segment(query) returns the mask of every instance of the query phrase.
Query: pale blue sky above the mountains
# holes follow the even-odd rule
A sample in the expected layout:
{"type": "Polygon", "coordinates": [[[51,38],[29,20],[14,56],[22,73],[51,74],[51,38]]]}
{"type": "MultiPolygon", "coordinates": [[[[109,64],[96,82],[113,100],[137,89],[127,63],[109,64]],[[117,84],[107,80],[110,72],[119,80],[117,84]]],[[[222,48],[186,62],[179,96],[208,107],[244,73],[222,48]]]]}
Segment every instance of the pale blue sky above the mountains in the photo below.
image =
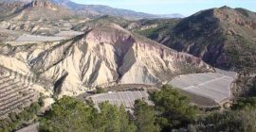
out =
{"type": "Polygon", "coordinates": [[[72,0],[80,4],[106,5],[151,14],[180,13],[184,16],[207,8],[247,8],[256,11],[256,0],[72,0]]]}

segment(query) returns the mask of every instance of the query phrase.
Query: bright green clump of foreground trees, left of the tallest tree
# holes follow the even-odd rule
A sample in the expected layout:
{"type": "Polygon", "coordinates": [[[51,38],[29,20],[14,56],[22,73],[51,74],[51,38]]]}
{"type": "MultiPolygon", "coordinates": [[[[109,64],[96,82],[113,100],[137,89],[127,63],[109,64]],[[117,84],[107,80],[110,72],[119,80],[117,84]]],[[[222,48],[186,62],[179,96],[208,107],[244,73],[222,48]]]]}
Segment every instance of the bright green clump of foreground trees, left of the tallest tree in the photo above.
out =
{"type": "Polygon", "coordinates": [[[134,132],[124,107],[102,103],[99,110],[64,96],[41,120],[41,131],[50,132],[134,132]]]}

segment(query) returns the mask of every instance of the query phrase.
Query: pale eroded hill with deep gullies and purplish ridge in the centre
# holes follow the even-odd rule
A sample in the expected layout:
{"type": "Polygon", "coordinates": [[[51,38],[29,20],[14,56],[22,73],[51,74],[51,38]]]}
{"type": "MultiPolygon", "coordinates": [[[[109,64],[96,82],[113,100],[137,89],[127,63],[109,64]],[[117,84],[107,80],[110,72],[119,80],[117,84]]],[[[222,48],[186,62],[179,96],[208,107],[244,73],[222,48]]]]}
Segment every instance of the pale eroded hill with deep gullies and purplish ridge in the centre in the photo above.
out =
{"type": "Polygon", "coordinates": [[[0,51],[24,61],[32,74],[51,80],[61,95],[97,86],[161,84],[177,74],[212,72],[199,58],[178,53],[116,24],[99,25],[60,43],[47,42],[0,51]]]}

